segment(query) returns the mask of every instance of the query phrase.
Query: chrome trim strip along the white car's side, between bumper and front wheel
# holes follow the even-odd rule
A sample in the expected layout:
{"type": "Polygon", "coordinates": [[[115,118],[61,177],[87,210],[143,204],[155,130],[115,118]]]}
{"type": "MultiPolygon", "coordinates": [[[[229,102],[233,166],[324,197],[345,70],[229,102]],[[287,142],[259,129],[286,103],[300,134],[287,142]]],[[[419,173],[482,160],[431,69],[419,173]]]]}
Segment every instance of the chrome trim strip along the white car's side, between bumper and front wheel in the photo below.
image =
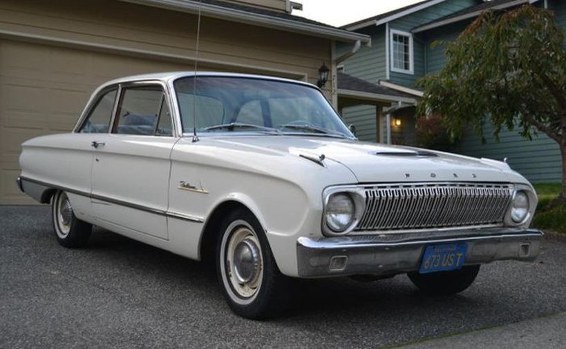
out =
{"type": "Polygon", "coordinates": [[[22,183],[25,182],[25,181],[28,181],[30,183],[35,183],[39,186],[44,186],[46,188],[63,190],[65,192],[70,192],[70,193],[75,194],[75,195],[81,195],[83,197],[88,197],[91,200],[100,200],[100,201],[104,201],[104,203],[113,203],[115,205],[133,208],[135,210],[150,212],[150,213],[153,213],[154,215],[161,215],[161,216],[175,218],[175,219],[183,219],[185,221],[192,221],[192,222],[196,222],[196,223],[204,223],[205,222],[205,219],[203,217],[185,215],[184,213],[180,213],[180,212],[171,212],[171,211],[160,210],[158,208],[151,208],[149,206],[138,205],[136,203],[130,203],[130,202],[123,201],[123,200],[113,199],[111,197],[104,197],[102,195],[94,195],[91,192],[84,192],[82,190],[76,190],[76,189],[68,188],[68,187],[65,187],[65,186],[57,186],[56,184],[53,184],[53,183],[46,183],[44,181],[39,181],[37,179],[31,179],[31,178],[28,178],[28,177],[19,177],[19,178],[21,179],[22,183]]]}

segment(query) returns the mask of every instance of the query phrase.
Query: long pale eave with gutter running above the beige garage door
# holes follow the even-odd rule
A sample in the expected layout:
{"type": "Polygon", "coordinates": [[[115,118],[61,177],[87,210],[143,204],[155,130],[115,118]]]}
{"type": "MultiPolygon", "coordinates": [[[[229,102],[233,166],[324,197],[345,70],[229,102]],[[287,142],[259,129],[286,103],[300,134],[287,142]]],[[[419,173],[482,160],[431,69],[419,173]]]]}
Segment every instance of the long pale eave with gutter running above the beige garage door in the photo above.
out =
{"type": "Polygon", "coordinates": [[[267,28],[274,28],[290,32],[298,32],[301,34],[311,34],[315,37],[323,37],[337,41],[355,42],[361,41],[366,44],[371,43],[371,37],[355,32],[348,32],[338,28],[327,28],[317,26],[311,23],[303,23],[299,21],[291,21],[289,19],[276,18],[265,14],[258,14],[237,10],[234,8],[225,8],[210,3],[198,3],[196,1],[180,1],[180,0],[119,0],[138,5],[152,6],[155,8],[164,8],[178,12],[188,12],[196,14],[200,13],[206,17],[214,17],[218,19],[227,19],[229,21],[254,24],[267,28]]]}

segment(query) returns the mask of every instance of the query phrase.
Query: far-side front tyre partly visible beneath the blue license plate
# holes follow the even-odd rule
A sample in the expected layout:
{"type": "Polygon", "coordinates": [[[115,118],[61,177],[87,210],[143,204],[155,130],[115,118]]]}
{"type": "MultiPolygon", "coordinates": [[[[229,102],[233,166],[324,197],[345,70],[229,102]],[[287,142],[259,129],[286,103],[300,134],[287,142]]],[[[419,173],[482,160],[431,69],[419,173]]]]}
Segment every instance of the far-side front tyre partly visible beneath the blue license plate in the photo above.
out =
{"type": "Polygon", "coordinates": [[[431,272],[419,274],[409,272],[407,276],[425,295],[448,296],[455,295],[469,288],[480,272],[480,266],[465,266],[460,270],[449,272],[431,272]]]}

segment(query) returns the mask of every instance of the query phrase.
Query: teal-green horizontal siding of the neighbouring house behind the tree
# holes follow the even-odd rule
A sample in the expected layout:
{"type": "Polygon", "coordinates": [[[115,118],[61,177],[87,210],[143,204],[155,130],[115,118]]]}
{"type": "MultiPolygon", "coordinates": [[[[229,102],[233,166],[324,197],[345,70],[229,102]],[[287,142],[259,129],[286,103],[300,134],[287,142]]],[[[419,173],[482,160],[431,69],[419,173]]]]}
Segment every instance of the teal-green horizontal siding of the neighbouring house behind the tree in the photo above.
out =
{"type": "MultiPolygon", "coordinates": [[[[415,12],[406,17],[389,23],[390,29],[410,32],[411,29],[429,21],[433,21],[446,14],[460,10],[467,6],[478,3],[473,0],[447,0],[436,6],[415,12]]],[[[540,1],[542,4],[543,1],[540,1]]],[[[566,1],[549,0],[549,8],[556,13],[556,22],[562,28],[566,28],[566,1]]],[[[452,41],[471,22],[462,21],[449,26],[428,30],[413,35],[414,43],[414,74],[403,74],[390,72],[390,81],[404,86],[413,87],[419,77],[424,74],[434,73],[442,70],[446,63],[444,46],[431,47],[434,41],[452,41]]],[[[386,79],[386,48],[385,48],[385,25],[369,27],[359,30],[372,37],[372,47],[362,47],[357,54],[345,63],[347,74],[372,83],[379,79],[386,79]]],[[[351,46],[339,46],[338,52],[346,52],[351,46]]],[[[364,141],[377,141],[377,125],[375,107],[357,106],[344,108],[344,119],[347,123],[353,123],[357,127],[359,139],[364,141]]],[[[405,118],[404,118],[405,119],[405,118]]],[[[406,120],[404,120],[406,121],[406,120]]],[[[404,123],[404,132],[410,123],[404,123]]],[[[557,182],[561,180],[561,157],[558,144],[549,139],[545,134],[534,136],[532,141],[520,137],[515,131],[502,130],[500,141],[496,141],[492,135],[493,128],[487,126],[484,130],[487,143],[482,144],[480,137],[473,132],[466,132],[460,142],[460,152],[473,157],[487,157],[502,160],[509,159],[509,165],[532,182],[557,182]]],[[[399,139],[394,131],[392,138],[399,139]]],[[[404,141],[412,139],[412,132],[403,137],[404,141]]],[[[403,142],[404,143],[404,142],[403,142]]]]}

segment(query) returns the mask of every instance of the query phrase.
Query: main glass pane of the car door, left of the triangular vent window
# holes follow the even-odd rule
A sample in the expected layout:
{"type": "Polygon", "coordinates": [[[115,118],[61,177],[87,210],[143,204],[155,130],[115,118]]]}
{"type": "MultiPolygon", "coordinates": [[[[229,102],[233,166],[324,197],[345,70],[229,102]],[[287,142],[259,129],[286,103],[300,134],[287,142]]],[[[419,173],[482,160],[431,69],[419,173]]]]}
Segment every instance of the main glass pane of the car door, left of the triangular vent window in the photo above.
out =
{"type": "Polygon", "coordinates": [[[155,134],[163,99],[162,88],[142,86],[124,88],[123,91],[115,133],[155,134]]]}

